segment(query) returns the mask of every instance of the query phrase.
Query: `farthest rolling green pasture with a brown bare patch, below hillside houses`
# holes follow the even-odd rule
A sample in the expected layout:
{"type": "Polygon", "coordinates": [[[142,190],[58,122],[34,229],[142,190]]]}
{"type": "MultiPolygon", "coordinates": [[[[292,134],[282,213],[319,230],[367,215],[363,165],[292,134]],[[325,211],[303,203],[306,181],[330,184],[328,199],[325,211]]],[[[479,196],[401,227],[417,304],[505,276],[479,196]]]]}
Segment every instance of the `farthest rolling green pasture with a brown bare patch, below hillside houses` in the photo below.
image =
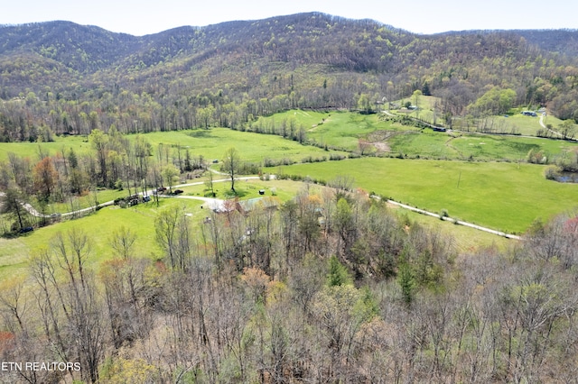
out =
{"type": "MultiPolygon", "coordinates": [[[[410,114],[413,115],[413,114],[410,114]]],[[[578,151],[578,143],[554,139],[540,139],[515,135],[479,134],[448,132],[438,133],[432,129],[423,130],[400,123],[383,121],[380,114],[356,114],[350,112],[312,112],[287,111],[262,118],[262,124],[281,125],[284,121],[294,120],[307,131],[307,138],[313,142],[340,148],[347,151],[358,151],[359,140],[385,145],[389,156],[403,156],[425,159],[450,160],[508,160],[524,161],[530,150],[543,151],[549,159],[564,156],[569,151],[578,151]],[[376,142],[377,137],[371,133],[381,131],[387,136],[383,142],[376,142]]],[[[517,121],[517,126],[527,127],[535,134],[541,128],[538,118],[519,114],[519,116],[494,116],[504,121],[517,121]],[[524,124],[532,125],[528,127],[524,124]],[[537,127],[534,127],[534,124],[537,127]]],[[[548,117],[555,120],[555,117],[548,117]]],[[[508,127],[508,130],[511,127],[508,127]]],[[[508,131],[509,132],[509,131],[508,131]]],[[[530,133],[530,132],[528,132],[530,133]]],[[[377,135],[379,136],[379,135],[377,135]]],[[[376,150],[377,151],[377,150],[376,150]]],[[[387,155],[387,153],[386,153],[387,155]]]]}

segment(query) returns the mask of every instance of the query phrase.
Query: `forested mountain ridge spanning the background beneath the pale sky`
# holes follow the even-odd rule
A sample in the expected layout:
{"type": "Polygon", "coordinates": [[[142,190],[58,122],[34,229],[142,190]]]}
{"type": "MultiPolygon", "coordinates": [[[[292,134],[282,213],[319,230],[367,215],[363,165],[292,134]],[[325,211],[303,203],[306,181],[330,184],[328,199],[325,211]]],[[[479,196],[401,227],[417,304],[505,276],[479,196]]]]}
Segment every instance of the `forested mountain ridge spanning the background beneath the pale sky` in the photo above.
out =
{"type": "Polygon", "coordinates": [[[514,90],[516,105],[547,105],[563,119],[576,118],[576,36],[418,35],[319,13],[142,37],[70,22],[4,26],[0,98],[27,100],[2,105],[0,140],[28,140],[42,124],[53,133],[112,123],[124,132],[237,129],[287,108],[371,109],[383,97],[418,89],[442,97],[446,115],[472,113],[468,107],[497,87],[514,90]]]}

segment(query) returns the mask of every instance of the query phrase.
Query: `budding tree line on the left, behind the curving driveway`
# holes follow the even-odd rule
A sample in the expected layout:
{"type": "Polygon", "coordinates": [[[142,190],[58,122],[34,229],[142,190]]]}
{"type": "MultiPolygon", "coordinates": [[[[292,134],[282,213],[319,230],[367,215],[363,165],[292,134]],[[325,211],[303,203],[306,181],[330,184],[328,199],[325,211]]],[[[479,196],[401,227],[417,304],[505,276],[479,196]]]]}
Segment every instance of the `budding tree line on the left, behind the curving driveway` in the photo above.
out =
{"type": "MultiPolygon", "coordinates": [[[[202,155],[181,145],[161,143],[153,148],[144,135],[129,140],[114,125],[108,133],[95,129],[88,142],[90,151],[82,153],[65,145],[56,153],[39,145],[33,158],[8,152],[7,160],[0,161],[0,191],[4,192],[0,209],[7,214],[5,223],[13,221],[3,225],[3,233],[48,224],[47,216],[53,214],[48,206],[53,203],[67,204],[69,211],[75,211],[79,199],[85,197],[96,206],[99,188],[126,190],[128,196],[147,195],[152,188],[170,188],[175,181],[206,168],[202,155]],[[28,215],[25,203],[31,203],[39,217],[28,215]]],[[[238,168],[246,172],[243,164],[240,161],[238,168]]]]}

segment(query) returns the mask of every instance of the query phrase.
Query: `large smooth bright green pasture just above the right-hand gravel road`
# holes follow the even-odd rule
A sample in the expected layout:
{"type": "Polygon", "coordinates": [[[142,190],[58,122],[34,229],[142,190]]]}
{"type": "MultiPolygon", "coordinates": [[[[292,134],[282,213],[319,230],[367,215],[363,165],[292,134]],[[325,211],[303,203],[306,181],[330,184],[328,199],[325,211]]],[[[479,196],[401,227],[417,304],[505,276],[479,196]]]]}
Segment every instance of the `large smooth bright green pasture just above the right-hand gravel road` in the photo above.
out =
{"type": "MultiPolygon", "coordinates": [[[[355,187],[507,233],[524,233],[578,206],[578,185],[546,180],[544,166],[508,162],[356,159],[295,164],[277,172],[328,181],[349,175],[355,187]]],[[[272,170],[273,171],[273,170],[272,170]]]]}

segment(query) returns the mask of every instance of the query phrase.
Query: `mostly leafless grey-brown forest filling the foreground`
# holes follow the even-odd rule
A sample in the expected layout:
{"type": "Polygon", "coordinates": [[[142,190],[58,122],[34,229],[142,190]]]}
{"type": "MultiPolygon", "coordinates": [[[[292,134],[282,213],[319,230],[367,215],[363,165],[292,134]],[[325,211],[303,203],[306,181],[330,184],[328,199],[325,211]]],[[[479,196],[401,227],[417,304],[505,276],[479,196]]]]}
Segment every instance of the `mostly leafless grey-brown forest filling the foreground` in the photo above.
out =
{"type": "Polygon", "coordinates": [[[3,282],[0,356],[82,369],[2,379],[575,382],[575,218],[459,254],[382,203],[322,195],[214,214],[195,232],[169,206],[159,261],[135,254],[126,228],[98,267],[89,233],[54,237],[28,276],[3,282]]]}

